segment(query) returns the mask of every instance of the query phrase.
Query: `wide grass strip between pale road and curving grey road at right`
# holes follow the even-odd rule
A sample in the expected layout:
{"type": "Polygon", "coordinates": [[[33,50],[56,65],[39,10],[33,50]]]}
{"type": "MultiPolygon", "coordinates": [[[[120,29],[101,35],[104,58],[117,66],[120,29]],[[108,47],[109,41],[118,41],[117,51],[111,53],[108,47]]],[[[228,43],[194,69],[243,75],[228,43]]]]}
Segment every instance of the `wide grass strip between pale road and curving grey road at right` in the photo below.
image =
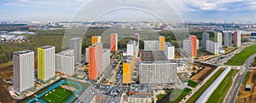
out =
{"type": "Polygon", "coordinates": [[[212,95],[207,100],[207,103],[222,103],[226,94],[228,93],[230,86],[233,83],[233,78],[239,70],[232,69],[223,81],[219,83],[218,88],[214,90],[212,95]]]}

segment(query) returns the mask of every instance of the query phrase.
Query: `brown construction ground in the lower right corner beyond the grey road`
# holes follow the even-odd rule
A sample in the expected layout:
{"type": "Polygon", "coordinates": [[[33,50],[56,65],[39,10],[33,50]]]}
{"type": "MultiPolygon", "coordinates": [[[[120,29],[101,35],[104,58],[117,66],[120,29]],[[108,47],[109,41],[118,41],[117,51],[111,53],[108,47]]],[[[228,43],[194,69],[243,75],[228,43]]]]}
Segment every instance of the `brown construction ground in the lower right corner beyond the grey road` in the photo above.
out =
{"type": "Polygon", "coordinates": [[[256,70],[250,70],[244,77],[243,83],[239,90],[236,101],[239,103],[255,103],[256,102],[256,70]]]}

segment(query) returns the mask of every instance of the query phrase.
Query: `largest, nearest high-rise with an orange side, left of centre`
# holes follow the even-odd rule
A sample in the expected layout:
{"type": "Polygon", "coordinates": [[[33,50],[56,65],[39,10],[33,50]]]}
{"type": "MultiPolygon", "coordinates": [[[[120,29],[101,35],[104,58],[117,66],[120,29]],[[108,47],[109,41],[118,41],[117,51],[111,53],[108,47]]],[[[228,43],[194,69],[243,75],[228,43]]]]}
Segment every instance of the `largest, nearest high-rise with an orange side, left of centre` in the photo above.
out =
{"type": "Polygon", "coordinates": [[[89,47],[89,79],[96,80],[102,73],[102,43],[89,47]]]}

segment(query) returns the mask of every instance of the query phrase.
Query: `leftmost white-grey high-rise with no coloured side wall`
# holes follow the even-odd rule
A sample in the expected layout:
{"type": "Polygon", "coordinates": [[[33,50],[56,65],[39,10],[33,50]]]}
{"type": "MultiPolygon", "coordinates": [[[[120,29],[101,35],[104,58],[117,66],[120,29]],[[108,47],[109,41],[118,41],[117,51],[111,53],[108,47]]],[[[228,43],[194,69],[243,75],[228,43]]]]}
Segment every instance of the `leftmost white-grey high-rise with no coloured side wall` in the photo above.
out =
{"type": "Polygon", "coordinates": [[[18,94],[34,88],[34,52],[31,50],[17,51],[13,54],[14,77],[13,87],[18,94]]]}

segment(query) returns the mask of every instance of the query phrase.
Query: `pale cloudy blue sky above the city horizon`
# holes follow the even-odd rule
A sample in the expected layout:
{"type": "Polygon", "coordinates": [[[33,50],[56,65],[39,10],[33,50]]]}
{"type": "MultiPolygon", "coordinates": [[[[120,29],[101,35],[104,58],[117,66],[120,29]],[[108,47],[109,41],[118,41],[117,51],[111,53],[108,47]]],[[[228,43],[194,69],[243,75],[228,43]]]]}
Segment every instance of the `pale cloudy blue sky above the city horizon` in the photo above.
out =
{"type": "Polygon", "coordinates": [[[8,20],[184,20],[256,22],[255,0],[0,0],[8,20]]]}

